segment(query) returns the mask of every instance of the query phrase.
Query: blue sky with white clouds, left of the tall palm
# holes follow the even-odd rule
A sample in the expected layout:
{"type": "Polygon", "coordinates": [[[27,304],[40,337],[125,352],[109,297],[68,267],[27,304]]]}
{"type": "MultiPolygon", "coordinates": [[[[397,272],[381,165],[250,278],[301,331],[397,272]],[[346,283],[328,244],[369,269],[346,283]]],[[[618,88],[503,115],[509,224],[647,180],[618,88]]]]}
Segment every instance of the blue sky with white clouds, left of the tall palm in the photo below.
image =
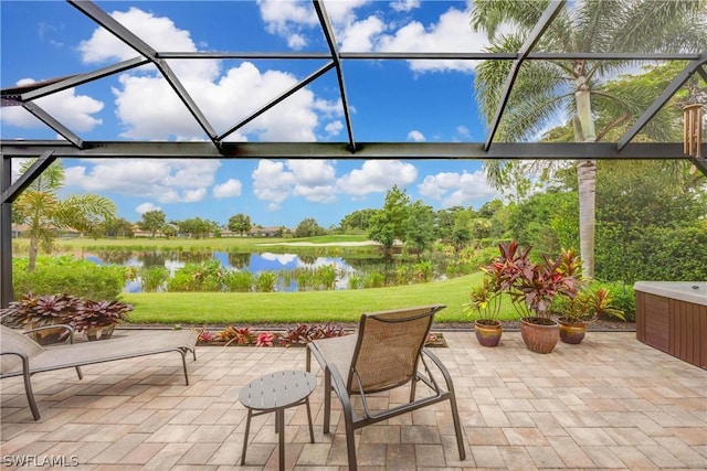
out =
{"type": "MultiPolygon", "coordinates": [[[[158,51],[316,51],[327,46],[310,2],[96,2],[158,51]]],[[[481,51],[471,2],[327,1],[342,51],[481,51]]],[[[0,2],[1,86],[93,71],[136,53],[65,2],[0,2]]],[[[324,65],[319,61],[172,61],[217,132],[324,65]]],[[[357,141],[484,141],[474,63],[348,61],[346,87],[357,141]]],[[[141,67],[38,100],[84,140],[205,140],[159,74],[141,67]]],[[[56,139],[19,107],[1,109],[2,139],[56,139]]],[[[334,72],[230,136],[239,141],[346,141],[334,72]]],[[[479,207],[499,195],[478,161],[64,160],[67,193],[110,197],[119,216],[328,227],[381,207],[393,184],[435,210],[479,207]]],[[[19,167],[19,165],[15,165],[19,167]]]]}

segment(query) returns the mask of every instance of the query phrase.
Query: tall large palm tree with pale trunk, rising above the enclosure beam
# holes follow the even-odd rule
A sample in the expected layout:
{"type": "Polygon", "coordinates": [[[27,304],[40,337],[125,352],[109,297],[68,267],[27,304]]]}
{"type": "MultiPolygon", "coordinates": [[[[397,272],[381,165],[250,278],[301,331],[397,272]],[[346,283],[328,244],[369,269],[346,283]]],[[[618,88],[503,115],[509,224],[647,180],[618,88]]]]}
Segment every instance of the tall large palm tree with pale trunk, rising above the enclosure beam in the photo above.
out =
{"type": "MultiPolygon", "coordinates": [[[[485,30],[489,52],[516,52],[534,29],[549,0],[476,0],[472,28],[485,30]],[[502,25],[513,33],[499,34],[502,25]]],[[[700,0],[580,1],[562,9],[536,50],[562,52],[700,52],[707,44],[707,3],[700,0]]],[[[629,61],[526,61],[508,99],[496,139],[527,140],[539,135],[557,116],[566,118],[576,142],[595,142],[611,129],[639,116],[640,108],[626,97],[604,88],[608,77],[631,65],[629,61]],[[608,117],[600,122],[597,116],[608,117]]],[[[482,111],[493,119],[508,61],[486,61],[477,68],[476,95],[482,111]]],[[[658,126],[653,127],[659,132],[658,126]]],[[[657,138],[661,138],[656,136],[657,138]]],[[[503,186],[510,162],[488,162],[492,183],[503,186]]],[[[576,163],[579,186],[580,254],[583,276],[594,277],[594,193],[597,161],[576,163]]]]}

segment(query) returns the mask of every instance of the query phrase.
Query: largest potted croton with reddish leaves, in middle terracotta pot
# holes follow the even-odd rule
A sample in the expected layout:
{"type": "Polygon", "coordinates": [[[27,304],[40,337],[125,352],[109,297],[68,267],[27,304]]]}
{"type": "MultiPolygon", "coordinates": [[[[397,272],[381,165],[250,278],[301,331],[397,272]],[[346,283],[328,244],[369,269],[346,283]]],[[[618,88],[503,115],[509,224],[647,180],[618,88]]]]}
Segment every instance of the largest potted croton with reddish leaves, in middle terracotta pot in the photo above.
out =
{"type": "Polygon", "coordinates": [[[520,334],[526,346],[537,353],[552,352],[560,333],[551,307],[558,297],[577,295],[576,267],[568,266],[567,253],[557,260],[544,257],[541,263],[534,263],[529,257],[531,247],[524,250],[513,240],[498,248],[500,256],[484,269],[510,296],[520,315],[520,334]]]}

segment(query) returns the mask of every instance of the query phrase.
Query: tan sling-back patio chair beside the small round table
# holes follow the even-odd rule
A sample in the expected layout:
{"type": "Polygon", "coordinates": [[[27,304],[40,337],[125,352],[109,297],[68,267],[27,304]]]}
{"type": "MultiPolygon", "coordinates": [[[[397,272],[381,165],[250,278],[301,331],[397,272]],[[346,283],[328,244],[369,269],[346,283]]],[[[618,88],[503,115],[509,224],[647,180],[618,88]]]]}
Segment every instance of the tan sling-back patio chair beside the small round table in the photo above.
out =
{"type": "Polygon", "coordinates": [[[312,355],[324,370],[325,433],[329,432],[331,390],[341,402],[349,469],[357,469],[356,429],[442,400],[450,402],[460,459],[466,459],[452,378],[437,356],[424,346],[434,314],[443,308],[445,306],[434,304],[365,313],[359,322],[358,334],[320,339],[307,344],[307,371],[312,366],[312,355]],[[444,377],[446,388],[440,386],[433,370],[444,377]],[[431,393],[415,399],[419,382],[426,385],[431,393]],[[408,403],[384,410],[369,408],[368,397],[371,394],[408,384],[408,403]],[[360,405],[355,407],[351,396],[359,396],[360,405]]]}

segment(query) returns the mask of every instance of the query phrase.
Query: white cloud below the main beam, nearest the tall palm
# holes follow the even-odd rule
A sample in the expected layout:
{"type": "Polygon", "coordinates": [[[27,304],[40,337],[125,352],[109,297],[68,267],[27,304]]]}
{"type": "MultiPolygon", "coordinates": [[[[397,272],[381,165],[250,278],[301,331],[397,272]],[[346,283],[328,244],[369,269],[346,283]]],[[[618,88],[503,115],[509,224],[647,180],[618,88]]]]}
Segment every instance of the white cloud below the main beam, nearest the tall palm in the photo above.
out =
{"type": "Polygon", "coordinates": [[[468,206],[474,203],[485,203],[500,197],[500,193],[486,182],[483,171],[474,173],[443,172],[428,175],[418,185],[421,195],[440,201],[442,207],[468,206]]]}

